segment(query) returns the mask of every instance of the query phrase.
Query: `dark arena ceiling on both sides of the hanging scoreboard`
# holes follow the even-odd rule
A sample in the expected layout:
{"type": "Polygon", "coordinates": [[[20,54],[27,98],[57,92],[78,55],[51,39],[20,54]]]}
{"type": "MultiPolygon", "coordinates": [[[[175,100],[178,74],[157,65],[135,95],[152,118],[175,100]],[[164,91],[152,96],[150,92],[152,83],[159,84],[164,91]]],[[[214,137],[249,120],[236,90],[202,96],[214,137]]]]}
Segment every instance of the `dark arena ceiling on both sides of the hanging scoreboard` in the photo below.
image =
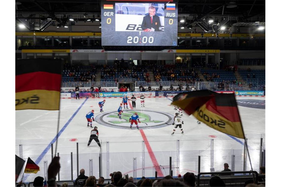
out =
{"type": "MultiPolygon", "coordinates": [[[[265,22],[265,0],[174,0],[178,3],[178,18],[185,19],[178,26],[198,27],[200,32],[218,31],[223,25],[255,24],[265,22]],[[208,25],[208,20],[214,20],[216,28],[208,25]],[[200,28],[200,29],[199,29],[200,28]]],[[[49,25],[66,24],[69,17],[76,21],[100,17],[100,0],[16,0],[16,24],[40,25],[30,27],[30,30],[41,30],[49,25]],[[48,21],[51,18],[52,21],[48,21]],[[39,21],[38,21],[39,20],[39,21]],[[38,23],[40,22],[40,23],[38,23]]],[[[44,30],[44,29],[43,29],[44,30]]]]}

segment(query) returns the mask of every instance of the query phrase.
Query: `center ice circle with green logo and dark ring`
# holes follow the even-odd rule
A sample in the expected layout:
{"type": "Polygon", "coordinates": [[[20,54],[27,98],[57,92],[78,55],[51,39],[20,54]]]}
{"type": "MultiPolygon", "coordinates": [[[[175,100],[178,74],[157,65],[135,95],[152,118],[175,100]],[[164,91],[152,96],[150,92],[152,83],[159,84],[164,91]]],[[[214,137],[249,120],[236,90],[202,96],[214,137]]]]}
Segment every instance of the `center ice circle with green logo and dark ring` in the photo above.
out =
{"type": "MultiPolygon", "coordinates": [[[[130,117],[138,113],[141,123],[138,123],[140,129],[160,128],[173,123],[174,116],[166,112],[154,111],[154,110],[124,110],[119,119],[117,111],[110,111],[99,114],[95,120],[101,125],[113,127],[113,128],[130,128],[130,117]],[[144,122],[144,123],[143,123],[144,122]],[[146,124],[147,125],[146,125],[146,124]],[[166,124],[168,123],[168,124],[166,124]]],[[[133,124],[133,129],[136,129],[136,125],[133,124]]]]}

